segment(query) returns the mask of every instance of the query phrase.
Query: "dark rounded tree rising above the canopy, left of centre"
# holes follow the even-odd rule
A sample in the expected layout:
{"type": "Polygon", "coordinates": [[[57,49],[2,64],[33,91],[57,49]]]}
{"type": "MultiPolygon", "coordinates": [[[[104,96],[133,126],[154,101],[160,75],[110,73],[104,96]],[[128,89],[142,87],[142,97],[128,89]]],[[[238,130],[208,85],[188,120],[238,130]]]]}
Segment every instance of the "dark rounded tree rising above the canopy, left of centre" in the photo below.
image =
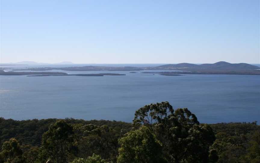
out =
{"type": "Polygon", "coordinates": [[[66,121],[59,120],[42,136],[42,160],[66,163],[73,145],[73,128],[66,121]]]}

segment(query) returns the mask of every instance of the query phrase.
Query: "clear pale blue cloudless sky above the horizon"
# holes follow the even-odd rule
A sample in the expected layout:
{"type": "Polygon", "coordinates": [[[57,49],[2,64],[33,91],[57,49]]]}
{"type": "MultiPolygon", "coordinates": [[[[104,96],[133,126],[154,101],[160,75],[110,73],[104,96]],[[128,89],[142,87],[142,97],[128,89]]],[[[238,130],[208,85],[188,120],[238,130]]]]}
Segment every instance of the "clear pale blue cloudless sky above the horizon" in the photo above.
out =
{"type": "Polygon", "coordinates": [[[0,0],[1,63],[260,63],[259,0],[0,0]]]}

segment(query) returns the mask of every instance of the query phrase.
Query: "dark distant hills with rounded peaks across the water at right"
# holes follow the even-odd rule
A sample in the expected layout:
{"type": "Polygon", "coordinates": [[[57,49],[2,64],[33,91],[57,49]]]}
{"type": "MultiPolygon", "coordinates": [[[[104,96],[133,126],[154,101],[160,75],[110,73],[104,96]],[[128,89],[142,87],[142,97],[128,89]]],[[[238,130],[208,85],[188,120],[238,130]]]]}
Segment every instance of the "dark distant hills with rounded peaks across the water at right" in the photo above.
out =
{"type": "Polygon", "coordinates": [[[191,64],[191,63],[179,63],[179,64],[167,64],[158,66],[158,68],[164,69],[218,69],[218,70],[248,70],[248,69],[259,69],[258,66],[250,65],[247,63],[228,63],[224,61],[216,63],[205,63],[201,65],[191,64]]]}

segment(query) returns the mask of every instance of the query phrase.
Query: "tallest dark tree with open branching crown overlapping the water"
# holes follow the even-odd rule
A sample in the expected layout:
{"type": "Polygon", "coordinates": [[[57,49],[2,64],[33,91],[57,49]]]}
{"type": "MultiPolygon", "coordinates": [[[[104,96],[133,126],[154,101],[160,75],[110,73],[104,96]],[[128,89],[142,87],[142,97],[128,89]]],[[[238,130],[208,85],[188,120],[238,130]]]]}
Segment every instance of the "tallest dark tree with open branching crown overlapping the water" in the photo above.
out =
{"type": "Polygon", "coordinates": [[[200,125],[187,108],[174,109],[169,102],[146,105],[135,112],[133,125],[145,125],[162,142],[169,162],[208,162],[215,135],[209,125],[200,125]]]}

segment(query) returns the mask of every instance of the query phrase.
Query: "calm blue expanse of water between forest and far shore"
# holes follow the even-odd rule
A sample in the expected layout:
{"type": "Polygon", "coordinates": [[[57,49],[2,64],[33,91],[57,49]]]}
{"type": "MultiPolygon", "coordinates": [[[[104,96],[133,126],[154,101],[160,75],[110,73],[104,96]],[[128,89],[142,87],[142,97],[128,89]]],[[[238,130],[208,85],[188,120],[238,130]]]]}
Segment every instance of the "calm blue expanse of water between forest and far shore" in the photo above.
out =
{"type": "Polygon", "coordinates": [[[113,73],[126,75],[0,76],[0,117],[16,120],[72,117],[131,122],[135,110],[140,107],[169,101],[175,109],[187,107],[203,123],[260,122],[258,75],[113,73]]]}

